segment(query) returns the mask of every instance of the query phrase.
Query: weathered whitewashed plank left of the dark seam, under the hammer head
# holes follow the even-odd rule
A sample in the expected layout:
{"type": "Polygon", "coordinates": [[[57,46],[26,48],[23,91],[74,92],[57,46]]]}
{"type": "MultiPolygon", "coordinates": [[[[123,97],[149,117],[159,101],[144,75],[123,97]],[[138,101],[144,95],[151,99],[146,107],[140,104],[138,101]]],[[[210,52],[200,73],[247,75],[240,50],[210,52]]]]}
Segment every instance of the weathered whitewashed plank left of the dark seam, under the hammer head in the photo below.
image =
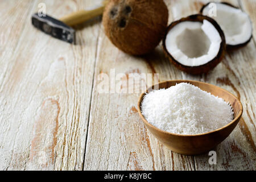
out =
{"type": "MultiPolygon", "coordinates": [[[[47,14],[56,18],[93,5],[91,1],[40,3],[46,3],[47,14]]],[[[73,46],[31,26],[31,14],[38,11],[38,4],[31,3],[32,9],[26,4],[19,7],[27,13],[20,21],[24,25],[19,44],[10,58],[1,59],[3,68],[8,69],[0,81],[4,162],[0,168],[81,170],[100,21],[77,31],[78,45],[73,46]]],[[[8,18],[14,24],[20,19],[8,18]]],[[[10,41],[18,35],[10,35],[10,41]]],[[[7,44],[11,43],[8,40],[7,44]]]]}

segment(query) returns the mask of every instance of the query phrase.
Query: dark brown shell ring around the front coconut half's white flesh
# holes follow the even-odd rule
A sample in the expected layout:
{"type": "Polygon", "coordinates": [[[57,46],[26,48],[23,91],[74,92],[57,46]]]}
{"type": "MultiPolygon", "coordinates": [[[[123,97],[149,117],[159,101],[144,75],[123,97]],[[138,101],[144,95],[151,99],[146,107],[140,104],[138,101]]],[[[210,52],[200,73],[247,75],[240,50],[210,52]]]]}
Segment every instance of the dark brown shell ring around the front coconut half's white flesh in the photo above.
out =
{"type": "Polygon", "coordinates": [[[225,50],[226,50],[225,48],[226,48],[226,42],[225,42],[224,32],[221,30],[221,28],[218,25],[218,23],[214,19],[209,18],[208,16],[200,15],[200,14],[191,15],[191,16],[188,16],[187,18],[182,18],[180,20],[172,22],[170,24],[170,26],[168,26],[166,34],[164,35],[164,38],[163,38],[164,53],[166,54],[168,59],[171,61],[171,63],[174,64],[175,67],[179,68],[181,71],[187,72],[187,73],[192,74],[192,75],[199,75],[201,73],[207,73],[211,69],[216,67],[218,65],[218,63],[221,62],[222,58],[225,55],[225,50]],[[218,51],[217,56],[215,56],[214,59],[210,60],[208,63],[200,65],[200,66],[196,66],[196,67],[189,67],[187,65],[183,65],[183,64],[179,63],[177,60],[174,59],[174,57],[172,57],[171,53],[167,51],[167,48],[166,48],[166,36],[167,36],[168,32],[171,30],[171,28],[176,26],[176,24],[178,24],[178,23],[185,22],[185,21],[201,22],[201,23],[203,23],[204,19],[208,20],[208,22],[212,23],[213,26],[216,28],[216,30],[218,31],[218,33],[221,36],[222,42],[221,42],[220,50],[218,51]]]}

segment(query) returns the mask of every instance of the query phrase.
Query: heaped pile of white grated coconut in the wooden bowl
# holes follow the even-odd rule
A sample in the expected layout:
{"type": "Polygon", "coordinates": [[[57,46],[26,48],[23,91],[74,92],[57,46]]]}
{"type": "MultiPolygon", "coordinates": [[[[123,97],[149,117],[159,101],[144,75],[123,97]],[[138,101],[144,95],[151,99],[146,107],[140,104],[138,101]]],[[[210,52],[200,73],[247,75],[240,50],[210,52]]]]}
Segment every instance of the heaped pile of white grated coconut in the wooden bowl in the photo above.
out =
{"type": "Polygon", "coordinates": [[[141,109],[151,125],[187,135],[216,130],[234,116],[232,107],[222,98],[187,83],[152,90],[144,96],[141,109]]]}

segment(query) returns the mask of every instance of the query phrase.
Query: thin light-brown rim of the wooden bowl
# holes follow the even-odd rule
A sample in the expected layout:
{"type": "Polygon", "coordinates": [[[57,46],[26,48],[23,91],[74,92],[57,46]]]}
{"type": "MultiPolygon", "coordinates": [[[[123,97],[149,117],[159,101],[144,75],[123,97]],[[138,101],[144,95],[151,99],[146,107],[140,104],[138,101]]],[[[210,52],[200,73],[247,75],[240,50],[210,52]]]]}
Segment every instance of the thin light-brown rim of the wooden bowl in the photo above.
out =
{"type": "MultiPolygon", "coordinates": [[[[139,100],[138,100],[138,113],[139,113],[139,116],[141,117],[141,119],[142,119],[142,121],[143,121],[143,123],[145,125],[148,125],[148,126],[152,127],[153,129],[159,131],[160,133],[164,133],[164,134],[168,134],[168,135],[176,135],[176,136],[179,136],[179,137],[199,137],[199,136],[203,136],[203,135],[207,135],[207,134],[212,134],[212,133],[215,133],[215,132],[220,131],[222,129],[225,129],[226,127],[228,127],[228,126],[232,125],[234,122],[236,122],[237,119],[239,119],[242,116],[243,106],[242,106],[241,101],[236,96],[234,96],[234,94],[228,92],[228,90],[220,88],[219,86],[216,86],[216,85],[213,85],[213,84],[208,84],[207,82],[201,82],[201,81],[195,81],[195,80],[167,80],[167,81],[158,82],[158,84],[155,84],[155,85],[152,85],[152,86],[148,87],[147,90],[145,92],[141,93],[141,95],[139,96],[139,100]],[[230,121],[225,126],[222,126],[222,127],[218,128],[216,130],[213,130],[213,131],[208,131],[207,133],[200,133],[200,134],[176,134],[176,133],[171,133],[171,132],[159,129],[158,127],[152,125],[150,122],[147,121],[147,119],[144,118],[144,116],[141,113],[141,103],[143,101],[144,95],[146,93],[148,93],[148,89],[152,88],[155,85],[163,84],[164,82],[187,82],[187,83],[190,83],[190,84],[192,84],[191,82],[197,82],[197,83],[200,83],[200,84],[206,84],[206,85],[217,87],[218,89],[220,89],[220,90],[222,90],[222,91],[232,95],[234,98],[236,98],[236,100],[238,101],[238,104],[240,106],[240,109],[239,109],[239,112],[237,114],[237,117],[234,118],[232,121],[230,121]]],[[[212,93],[210,93],[210,94],[212,94],[212,93]]]]}

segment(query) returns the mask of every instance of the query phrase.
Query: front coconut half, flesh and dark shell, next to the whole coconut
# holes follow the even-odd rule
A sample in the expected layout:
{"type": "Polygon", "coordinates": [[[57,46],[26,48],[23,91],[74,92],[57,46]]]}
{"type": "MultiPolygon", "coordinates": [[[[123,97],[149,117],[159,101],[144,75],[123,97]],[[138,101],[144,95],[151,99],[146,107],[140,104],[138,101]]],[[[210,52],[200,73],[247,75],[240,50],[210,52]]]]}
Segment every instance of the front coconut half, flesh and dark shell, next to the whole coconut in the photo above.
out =
{"type": "Polygon", "coordinates": [[[212,18],[191,15],[170,24],[163,49],[177,68],[191,74],[207,73],[225,52],[224,32],[212,18]]]}

